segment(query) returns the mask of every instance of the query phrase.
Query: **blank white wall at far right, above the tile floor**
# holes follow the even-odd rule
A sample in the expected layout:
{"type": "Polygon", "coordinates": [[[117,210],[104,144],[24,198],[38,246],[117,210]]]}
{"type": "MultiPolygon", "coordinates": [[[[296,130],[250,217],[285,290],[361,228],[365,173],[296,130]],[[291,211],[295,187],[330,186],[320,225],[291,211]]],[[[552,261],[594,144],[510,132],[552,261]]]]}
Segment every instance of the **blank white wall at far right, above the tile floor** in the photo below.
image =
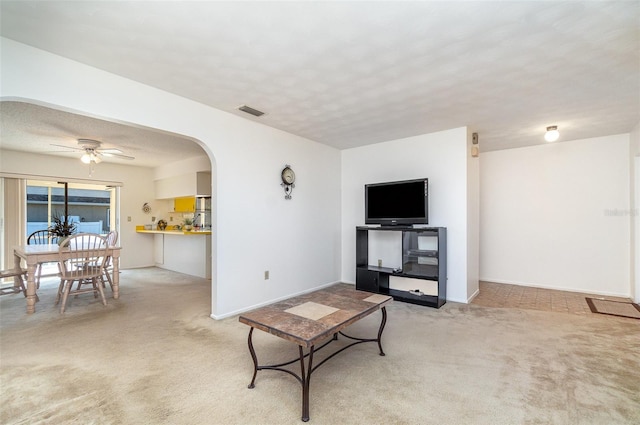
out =
{"type": "Polygon", "coordinates": [[[480,160],[481,280],[630,295],[629,135],[480,160]]]}

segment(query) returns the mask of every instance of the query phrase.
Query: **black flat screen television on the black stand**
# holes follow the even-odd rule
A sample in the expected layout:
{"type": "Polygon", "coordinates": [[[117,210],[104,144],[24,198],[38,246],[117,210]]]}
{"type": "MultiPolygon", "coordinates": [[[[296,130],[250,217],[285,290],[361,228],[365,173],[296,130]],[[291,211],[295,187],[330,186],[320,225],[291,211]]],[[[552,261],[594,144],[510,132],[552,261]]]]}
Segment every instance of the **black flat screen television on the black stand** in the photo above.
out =
{"type": "Polygon", "coordinates": [[[429,224],[429,179],[364,186],[365,224],[429,224]]]}

